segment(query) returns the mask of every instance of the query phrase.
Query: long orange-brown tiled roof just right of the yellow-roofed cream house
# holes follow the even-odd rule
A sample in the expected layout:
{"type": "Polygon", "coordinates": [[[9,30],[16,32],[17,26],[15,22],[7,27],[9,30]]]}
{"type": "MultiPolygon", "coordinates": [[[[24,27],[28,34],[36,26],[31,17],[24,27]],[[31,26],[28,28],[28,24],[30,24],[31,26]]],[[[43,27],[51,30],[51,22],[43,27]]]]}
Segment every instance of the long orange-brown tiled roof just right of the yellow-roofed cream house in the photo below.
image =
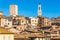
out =
{"type": "Polygon", "coordinates": [[[20,33],[15,34],[15,38],[44,37],[41,33],[20,33]]]}

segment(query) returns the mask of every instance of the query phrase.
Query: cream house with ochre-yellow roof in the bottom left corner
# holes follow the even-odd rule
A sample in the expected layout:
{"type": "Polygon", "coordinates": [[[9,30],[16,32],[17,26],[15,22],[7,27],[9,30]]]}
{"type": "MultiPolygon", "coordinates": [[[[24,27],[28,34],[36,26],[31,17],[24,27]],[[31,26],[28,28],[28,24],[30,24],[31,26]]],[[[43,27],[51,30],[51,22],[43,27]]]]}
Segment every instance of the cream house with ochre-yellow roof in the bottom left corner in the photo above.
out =
{"type": "Polygon", "coordinates": [[[0,27],[0,40],[14,40],[14,34],[0,27]]]}

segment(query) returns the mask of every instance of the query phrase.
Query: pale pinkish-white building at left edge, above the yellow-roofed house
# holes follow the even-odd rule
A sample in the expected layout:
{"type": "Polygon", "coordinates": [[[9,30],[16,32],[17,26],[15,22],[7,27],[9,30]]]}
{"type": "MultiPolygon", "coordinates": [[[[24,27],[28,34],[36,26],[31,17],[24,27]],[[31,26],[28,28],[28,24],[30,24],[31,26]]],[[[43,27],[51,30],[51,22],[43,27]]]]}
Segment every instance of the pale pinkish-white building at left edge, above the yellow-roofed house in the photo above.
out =
{"type": "Polygon", "coordinates": [[[0,26],[1,27],[12,27],[12,20],[8,20],[5,17],[0,18],[0,26]]]}

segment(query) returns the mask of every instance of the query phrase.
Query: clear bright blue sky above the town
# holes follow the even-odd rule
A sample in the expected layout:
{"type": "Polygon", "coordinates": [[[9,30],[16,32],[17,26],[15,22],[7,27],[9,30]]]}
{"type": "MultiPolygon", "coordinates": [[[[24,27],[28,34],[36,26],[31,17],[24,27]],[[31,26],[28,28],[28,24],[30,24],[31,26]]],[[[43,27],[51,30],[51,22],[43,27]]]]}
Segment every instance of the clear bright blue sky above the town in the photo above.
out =
{"type": "Polygon", "coordinates": [[[9,16],[10,4],[18,6],[18,14],[26,17],[38,16],[38,3],[42,6],[42,16],[49,18],[60,16],[60,0],[0,0],[0,11],[9,16]]]}

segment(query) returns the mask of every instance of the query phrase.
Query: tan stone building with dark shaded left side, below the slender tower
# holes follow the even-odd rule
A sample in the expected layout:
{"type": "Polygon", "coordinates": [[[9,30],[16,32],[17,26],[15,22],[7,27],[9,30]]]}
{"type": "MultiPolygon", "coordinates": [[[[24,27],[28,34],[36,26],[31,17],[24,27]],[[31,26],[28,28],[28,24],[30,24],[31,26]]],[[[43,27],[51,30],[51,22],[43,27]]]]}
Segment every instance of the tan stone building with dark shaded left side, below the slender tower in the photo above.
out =
{"type": "Polygon", "coordinates": [[[47,17],[38,17],[38,26],[51,26],[51,20],[47,17]]]}

